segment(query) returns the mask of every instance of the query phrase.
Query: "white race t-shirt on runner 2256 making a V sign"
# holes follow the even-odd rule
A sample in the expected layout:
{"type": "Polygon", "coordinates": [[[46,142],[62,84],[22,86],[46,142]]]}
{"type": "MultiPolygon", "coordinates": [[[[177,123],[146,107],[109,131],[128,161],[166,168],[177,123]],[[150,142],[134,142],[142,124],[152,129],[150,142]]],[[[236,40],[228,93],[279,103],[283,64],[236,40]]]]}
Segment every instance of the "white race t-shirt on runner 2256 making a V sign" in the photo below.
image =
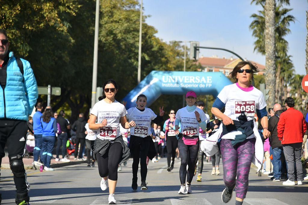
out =
{"type": "Polygon", "coordinates": [[[136,107],[129,108],[127,111],[127,119],[135,121],[136,126],[131,128],[131,135],[138,137],[146,137],[152,135],[151,121],[157,115],[150,109],[144,108],[144,111],[138,110],[136,107]]]}

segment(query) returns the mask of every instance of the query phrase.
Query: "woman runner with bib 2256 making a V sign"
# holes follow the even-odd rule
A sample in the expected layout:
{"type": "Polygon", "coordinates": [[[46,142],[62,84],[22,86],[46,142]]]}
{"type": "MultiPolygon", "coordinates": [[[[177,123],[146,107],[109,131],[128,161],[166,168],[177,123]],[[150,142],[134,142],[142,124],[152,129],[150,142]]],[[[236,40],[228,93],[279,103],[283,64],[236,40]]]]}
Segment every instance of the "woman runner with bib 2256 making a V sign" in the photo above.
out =
{"type": "Polygon", "coordinates": [[[141,174],[141,190],[147,190],[147,156],[153,159],[156,156],[156,149],[152,140],[151,122],[159,124],[164,121],[164,107],[159,108],[159,116],[157,116],[150,108],[145,107],[147,104],[147,97],[141,94],[137,97],[137,107],[129,108],[127,111],[128,120],[136,122],[136,126],[131,128],[131,138],[129,141],[129,149],[133,156],[132,164],[132,189],[137,190],[137,173],[140,161],[141,174]]]}

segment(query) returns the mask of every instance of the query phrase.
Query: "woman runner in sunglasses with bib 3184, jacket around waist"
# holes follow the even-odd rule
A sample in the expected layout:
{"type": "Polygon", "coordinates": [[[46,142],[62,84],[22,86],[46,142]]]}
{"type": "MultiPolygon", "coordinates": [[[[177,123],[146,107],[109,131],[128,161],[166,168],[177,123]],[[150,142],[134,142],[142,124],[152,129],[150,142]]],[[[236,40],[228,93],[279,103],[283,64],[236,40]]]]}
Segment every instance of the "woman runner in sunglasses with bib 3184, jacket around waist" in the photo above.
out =
{"type": "Polygon", "coordinates": [[[109,204],[116,204],[114,198],[118,180],[118,165],[129,159],[129,149],[120,132],[122,127],[129,129],[135,126],[134,121],[127,121],[127,111],[123,104],[115,100],[118,86],[114,80],[103,84],[104,96],[99,97],[91,110],[89,128],[96,130],[93,157],[97,159],[99,175],[102,177],[100,187],[104,191],[109,184],[109,204]],[[97,123],[95,121],[97,120],[97,123]]]}

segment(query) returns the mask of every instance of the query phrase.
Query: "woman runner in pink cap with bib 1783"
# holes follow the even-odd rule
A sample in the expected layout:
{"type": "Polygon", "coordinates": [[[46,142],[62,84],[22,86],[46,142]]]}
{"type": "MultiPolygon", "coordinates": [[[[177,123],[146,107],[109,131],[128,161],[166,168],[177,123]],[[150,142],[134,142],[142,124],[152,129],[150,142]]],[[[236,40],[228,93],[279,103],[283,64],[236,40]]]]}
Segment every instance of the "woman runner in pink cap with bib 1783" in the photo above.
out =
{"type": "Polygon", "coordinates": [[[205,130],[207,121],[205,113],[196,107],[197,94],[194,91],[188,91],[185,99],[187,106],[178,110],[175,115],[175,133],[176,135],[179,135],[178,147],[181,156],[181,188],[178,194],[192,193],[190,185],[193,180],[196,159],[199,151],[199,127],[201,127],[202,130],[205,130]],[[181,123],[180,132],[179,123],[181,123]],[[188,170],[186,170],[187,164],[188,170]]]}

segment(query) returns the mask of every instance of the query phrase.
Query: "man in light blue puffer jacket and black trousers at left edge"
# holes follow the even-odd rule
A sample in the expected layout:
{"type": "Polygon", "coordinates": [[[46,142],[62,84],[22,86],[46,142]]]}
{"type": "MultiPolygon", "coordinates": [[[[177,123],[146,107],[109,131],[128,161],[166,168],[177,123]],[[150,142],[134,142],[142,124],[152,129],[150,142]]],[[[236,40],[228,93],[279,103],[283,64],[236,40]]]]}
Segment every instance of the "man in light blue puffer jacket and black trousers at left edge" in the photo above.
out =
{"type": "Polygon", "coordinates": [[[0,165],[8,142],[10,168],[17,192],[15,203],[28,204],[30,184],[26,180],[22,156],[26,152],[27,120],[38,98],[38,87],[30,63],[20,59],[22,74],[13,52],[8,51],[9,46],[6,31],[0,29],[0,165]]]}

